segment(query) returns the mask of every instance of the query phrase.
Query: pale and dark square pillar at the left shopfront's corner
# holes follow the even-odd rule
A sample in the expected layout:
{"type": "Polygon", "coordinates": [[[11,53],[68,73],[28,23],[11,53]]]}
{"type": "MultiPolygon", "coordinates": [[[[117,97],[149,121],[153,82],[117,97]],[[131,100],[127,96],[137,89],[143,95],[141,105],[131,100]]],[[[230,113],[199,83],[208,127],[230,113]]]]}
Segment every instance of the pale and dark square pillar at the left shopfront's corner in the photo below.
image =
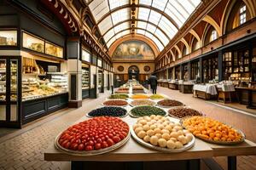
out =
{"type": "Polygon", "coordinates": [[[67,38],[68,107],[82,106],[82,62],[79,37],[67,38]]]}

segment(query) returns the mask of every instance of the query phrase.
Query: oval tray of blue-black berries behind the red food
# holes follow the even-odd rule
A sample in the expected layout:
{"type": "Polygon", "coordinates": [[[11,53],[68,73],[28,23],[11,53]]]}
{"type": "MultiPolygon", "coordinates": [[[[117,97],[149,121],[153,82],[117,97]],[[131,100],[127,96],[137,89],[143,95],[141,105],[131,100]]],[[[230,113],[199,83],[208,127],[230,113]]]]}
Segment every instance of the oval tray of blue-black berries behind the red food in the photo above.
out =
{"type": "Polygon", "coordinates": [[[87,116],[126,116],[127,111],[122,107],[101,107],[90,111],[87,116]]]}

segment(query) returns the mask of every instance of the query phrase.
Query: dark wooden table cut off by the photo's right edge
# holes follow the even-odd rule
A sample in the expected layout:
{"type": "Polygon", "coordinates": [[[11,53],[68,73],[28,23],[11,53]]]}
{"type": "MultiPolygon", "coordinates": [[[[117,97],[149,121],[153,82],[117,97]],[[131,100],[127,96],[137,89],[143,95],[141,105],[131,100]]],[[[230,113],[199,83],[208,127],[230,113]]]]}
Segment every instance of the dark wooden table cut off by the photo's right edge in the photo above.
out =
{"type": "Polygon", "coordinates": [[[241,105],[247,105],[247,108],[256,109],[256,88],[236,87],[235,89],[241,105]]]}

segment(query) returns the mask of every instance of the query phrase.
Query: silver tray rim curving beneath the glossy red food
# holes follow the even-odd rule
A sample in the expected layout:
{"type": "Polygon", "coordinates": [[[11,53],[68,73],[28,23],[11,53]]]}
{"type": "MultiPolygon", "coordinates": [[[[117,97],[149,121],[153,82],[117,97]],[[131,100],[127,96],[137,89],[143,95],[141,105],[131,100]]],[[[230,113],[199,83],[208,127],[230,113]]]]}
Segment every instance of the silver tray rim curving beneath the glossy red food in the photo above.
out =
{"type": "Polygon", "coordinates": [[[62,152],[65,152],[68,155],[72,155],[72,156],[96,156],[96,155],[100,155],[100,154],[110,152],[112,150],[116,150],[119,147],[123,146],[130,139],[130,135],[131,135],[131,133],[130,133],[130,130],[129,130],[129,133],[127,134],[125,139],[121,140],[117,144],[113,144],[112,146],[110,146],[108,148],[104,148],[104,149],[101,149],[101,150],[78,151],[78,150],[67,150],[66,148],[63,148],[61,146],[61,144],[58,143],[58,141],[61,137],[61,133],[59,133],[58,136],[55,138],[55,148],[57,150],[61,150],[62,152]]]}

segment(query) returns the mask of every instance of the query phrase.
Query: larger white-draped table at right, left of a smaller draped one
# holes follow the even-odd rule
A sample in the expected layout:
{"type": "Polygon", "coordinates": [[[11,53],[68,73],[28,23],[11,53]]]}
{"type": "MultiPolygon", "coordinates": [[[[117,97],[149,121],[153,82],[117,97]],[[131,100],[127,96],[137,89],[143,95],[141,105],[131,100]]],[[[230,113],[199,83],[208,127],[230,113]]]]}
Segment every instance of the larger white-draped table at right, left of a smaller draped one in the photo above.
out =
{"type": "Polygon", "coordinates": [[[202,99],[212,99],[218,94],[215,84],[195,84],[193,90],[193,96],[202,99]]]}

